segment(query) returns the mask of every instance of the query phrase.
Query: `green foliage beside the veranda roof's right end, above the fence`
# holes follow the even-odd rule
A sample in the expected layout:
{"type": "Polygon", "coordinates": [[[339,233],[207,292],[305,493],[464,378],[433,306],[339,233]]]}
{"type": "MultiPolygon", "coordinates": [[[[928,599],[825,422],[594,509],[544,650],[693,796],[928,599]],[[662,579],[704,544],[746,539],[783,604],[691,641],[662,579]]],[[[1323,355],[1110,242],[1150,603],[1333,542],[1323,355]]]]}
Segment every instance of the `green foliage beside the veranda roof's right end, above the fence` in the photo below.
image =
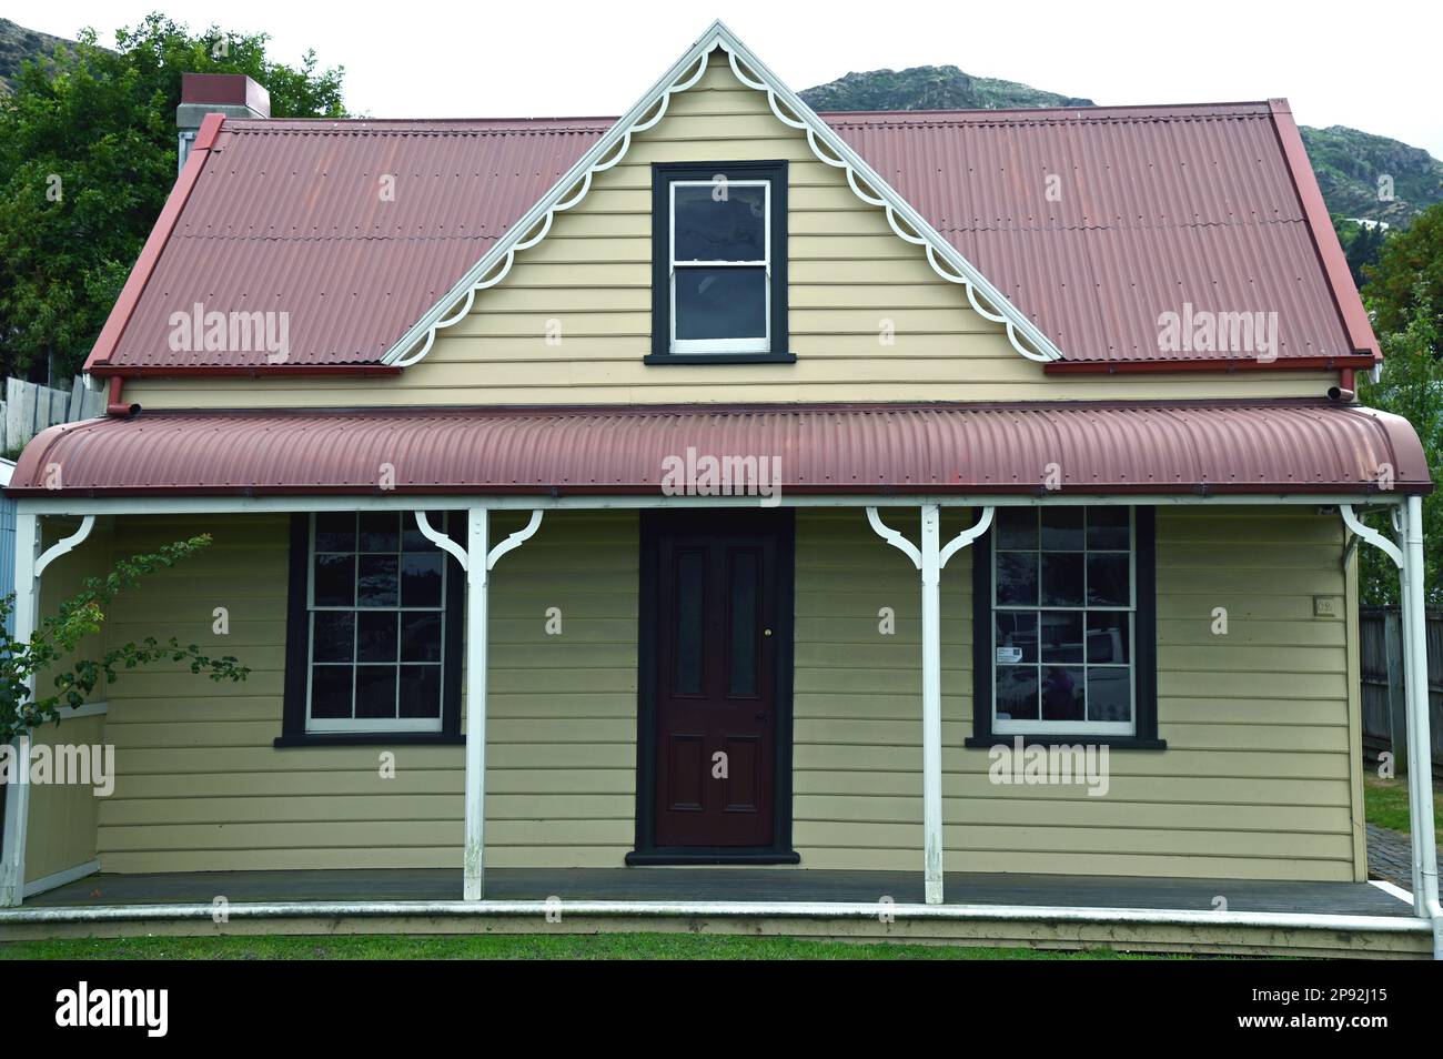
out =
{"type": "MultiPolygon", "coordinates": [[[[1397,238],[1397,237],[1395,237],[1397,238]]],[[[1371,289],[1369,289],[1371,290],[1371,289]]],[[[1369,303],[1381,319],[1377,302],[1369,303]]],[[[1421,278],[1414,284],[1401,330],[1381,330],[1382,374],[1377,384],[1362,382],[1362,403],[1403,416],[1417,430],[1433,479],[1443,478],[1443,328],[1421,278]]],[[[1377,521],[1375,518],[1371,521],[1377,521]]],[[[1380,524],[1385,532],[1390,527],[1380,524]]],[[[1390,534],[1391,535],[1391,534],[1390,534]]],[[[1439,542],[1443,541],[1443,493],[1423,498],[1423,593],[1429,606],[1443,603],[1439,583],[1439,542]]],[[[1369,606],[1398,603],[1398,568],[1377,548],[1361,550],[1362,602],[1369,606]]]]}

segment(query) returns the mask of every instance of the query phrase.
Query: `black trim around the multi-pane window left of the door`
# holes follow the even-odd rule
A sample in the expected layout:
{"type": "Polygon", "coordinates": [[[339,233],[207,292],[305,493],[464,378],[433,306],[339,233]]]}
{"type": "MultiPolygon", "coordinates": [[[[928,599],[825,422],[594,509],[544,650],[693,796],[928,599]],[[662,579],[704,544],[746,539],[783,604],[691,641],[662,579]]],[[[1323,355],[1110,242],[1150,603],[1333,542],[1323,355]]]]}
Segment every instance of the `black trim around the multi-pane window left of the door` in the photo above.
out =
{"type": "MultiPolygon", "coordinates": [[[[446,664],[442,672],[442,730],[440,731],[307,731],[306,730],[306,667],[309,658],[310,615],[306,609],[310,576],[309,511],[290,517],[290,576],[286,599],[286,690],[281,708],[281,734],[277,749],[291,746],[460,746],[466,737],[460,731],[460,671],[465,652],[463,623],[466,612],[466,579],[446,579],[446,664]]],[[[404,512],[403,512],[404,514],[404,512]]],[[[465,512],[446,517],[446,532],[456,538],[465,532],[465,512]]],[[[450,557],[446,558],[450,561],[450,557]]]]}

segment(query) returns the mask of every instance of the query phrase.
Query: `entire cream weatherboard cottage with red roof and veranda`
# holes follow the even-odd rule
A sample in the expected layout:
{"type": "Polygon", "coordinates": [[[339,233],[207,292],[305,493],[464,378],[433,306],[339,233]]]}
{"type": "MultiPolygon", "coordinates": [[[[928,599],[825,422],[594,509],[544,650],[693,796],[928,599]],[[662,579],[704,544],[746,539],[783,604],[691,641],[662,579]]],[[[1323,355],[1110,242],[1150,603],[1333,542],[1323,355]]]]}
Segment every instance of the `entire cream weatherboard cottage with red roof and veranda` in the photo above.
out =
{"type": "Polygon", "coordinates": [[[17,620],[208,532],[107,642],[251,675],[35,733],[114,791],[12,792],[0,931],[1436,954],[1430,830],[1367,882],[1380,359],[1280,100],[817,115],[717,23],[620,118],[209,114],[17,620]]]}

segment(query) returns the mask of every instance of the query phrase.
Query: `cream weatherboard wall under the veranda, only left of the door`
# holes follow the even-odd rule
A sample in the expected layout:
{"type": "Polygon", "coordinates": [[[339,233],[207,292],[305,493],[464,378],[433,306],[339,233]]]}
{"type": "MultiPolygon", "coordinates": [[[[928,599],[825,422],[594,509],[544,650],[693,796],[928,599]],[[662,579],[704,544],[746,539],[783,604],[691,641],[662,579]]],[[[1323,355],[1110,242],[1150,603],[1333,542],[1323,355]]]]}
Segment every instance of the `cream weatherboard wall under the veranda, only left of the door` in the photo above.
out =
{"type": "MultiPolygon", "coordinates": [[[[110,871],[460,864],[459,746],[286,747],[281,731],[287,517],[124,519],[140,551],[206,531],[215,545],[121,597],[113,638],[176,635],[235,654],[242,684],[180,667],[126,674],[107,737],[115,794],[100,805],[110,871]],[[229,609],[231,633],[212,633],[229,609]]],[[[494,537],[521,528],[494,519],[494,537]]],[[[610,866],[632,845],[636,517],[547,515],[492,573],[486,860],[610,866]],[[563,635],[545,633],[558,607],[563,635]]]]}

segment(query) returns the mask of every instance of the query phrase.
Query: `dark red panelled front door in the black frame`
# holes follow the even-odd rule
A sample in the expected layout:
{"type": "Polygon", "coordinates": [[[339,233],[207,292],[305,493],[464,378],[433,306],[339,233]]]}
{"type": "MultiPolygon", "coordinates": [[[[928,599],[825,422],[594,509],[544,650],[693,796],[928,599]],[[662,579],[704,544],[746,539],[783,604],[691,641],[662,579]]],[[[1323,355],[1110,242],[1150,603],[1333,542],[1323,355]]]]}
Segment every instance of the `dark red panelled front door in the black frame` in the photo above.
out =
{"type": "Polygon", "coordinates": [[[658,515],[657,847],[771,847],[776,838],[778,512],[658,515]]]}

